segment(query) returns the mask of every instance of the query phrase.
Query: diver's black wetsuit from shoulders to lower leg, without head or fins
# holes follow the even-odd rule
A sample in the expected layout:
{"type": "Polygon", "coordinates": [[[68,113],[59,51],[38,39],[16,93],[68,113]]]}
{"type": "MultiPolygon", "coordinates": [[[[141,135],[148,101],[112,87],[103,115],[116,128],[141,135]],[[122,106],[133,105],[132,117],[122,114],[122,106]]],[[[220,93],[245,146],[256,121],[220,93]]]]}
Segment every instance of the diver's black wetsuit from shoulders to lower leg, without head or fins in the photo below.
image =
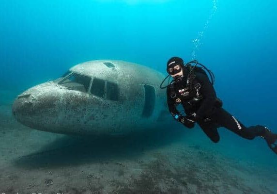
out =
{"type": "Polygon", "coordinates": [[[195,120],[200,128],[215,143],[219,141],[219,127],[227,128],[246,139],[254,139],[264,134],[265,127],[257,125],[247,128],[224,110],[209,78],[198,72],[195,75],[192,84],[187,84],[187,74],[184,74],[182,81],[174,81],[167,87],[169,111],[175,119],[176,115],[181,116],[176,105],[182,103],[187,115],[196,113],[195,120]]]}

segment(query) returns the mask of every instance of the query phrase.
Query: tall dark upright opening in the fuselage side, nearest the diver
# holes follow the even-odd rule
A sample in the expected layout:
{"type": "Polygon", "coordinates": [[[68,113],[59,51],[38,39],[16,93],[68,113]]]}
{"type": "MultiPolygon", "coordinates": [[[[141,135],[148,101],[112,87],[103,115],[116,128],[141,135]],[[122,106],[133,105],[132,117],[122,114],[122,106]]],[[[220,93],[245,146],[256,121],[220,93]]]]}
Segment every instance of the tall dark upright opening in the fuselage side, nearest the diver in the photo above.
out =
{"type": "Polygon", "coordinates": [[[149,117],[152,115],[155,107],[155,100],[156,100],[155,88],[151,85],[145,84],[144,93],[145,93],[145,99],[144,99],[142,117],[149,117]]]}

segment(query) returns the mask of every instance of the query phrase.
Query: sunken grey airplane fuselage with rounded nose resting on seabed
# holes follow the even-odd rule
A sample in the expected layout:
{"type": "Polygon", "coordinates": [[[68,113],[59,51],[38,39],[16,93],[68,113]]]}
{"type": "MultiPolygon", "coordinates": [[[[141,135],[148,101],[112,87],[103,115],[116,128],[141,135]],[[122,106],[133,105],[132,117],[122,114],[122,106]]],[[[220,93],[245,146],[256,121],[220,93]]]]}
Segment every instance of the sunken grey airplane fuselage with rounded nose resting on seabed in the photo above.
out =
{"type": "Polygon", "coordinates": [[[17,96],[12,112],[33,129],[72,135],[126,134],[172,119],[164,75],[147,66],[95,60],[17,96]]]}

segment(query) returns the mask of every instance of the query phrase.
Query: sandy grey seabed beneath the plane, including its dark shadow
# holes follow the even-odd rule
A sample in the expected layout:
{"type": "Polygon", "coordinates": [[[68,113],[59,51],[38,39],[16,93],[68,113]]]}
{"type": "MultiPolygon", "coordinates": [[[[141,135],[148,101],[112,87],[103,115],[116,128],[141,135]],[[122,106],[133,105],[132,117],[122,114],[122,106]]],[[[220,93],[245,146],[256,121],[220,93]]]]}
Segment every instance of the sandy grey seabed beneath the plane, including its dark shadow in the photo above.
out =
{"type": "Polygon", "coordinates": [[[17,123],[2,104],[0,194],[277,194],[277,167],[226,156],[199,134],[53,134],[17,123]]]}

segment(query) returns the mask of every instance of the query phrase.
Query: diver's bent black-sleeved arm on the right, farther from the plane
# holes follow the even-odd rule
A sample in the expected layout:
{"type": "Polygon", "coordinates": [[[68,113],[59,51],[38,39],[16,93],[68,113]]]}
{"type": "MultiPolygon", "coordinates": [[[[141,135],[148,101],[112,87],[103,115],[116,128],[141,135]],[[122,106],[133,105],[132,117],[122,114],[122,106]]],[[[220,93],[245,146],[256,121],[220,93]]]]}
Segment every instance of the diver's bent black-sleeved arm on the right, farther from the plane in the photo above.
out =
{"type": "Polygon", "coordinates": [[[196,117],[203,118],[208,116],[209,111],[214,107],[216,99],[215,89],[207,76],[201,73],[196,73],[196,78],[201,84],[200,93],[203,96],[201,106],[196,112],[196,117]]]}

